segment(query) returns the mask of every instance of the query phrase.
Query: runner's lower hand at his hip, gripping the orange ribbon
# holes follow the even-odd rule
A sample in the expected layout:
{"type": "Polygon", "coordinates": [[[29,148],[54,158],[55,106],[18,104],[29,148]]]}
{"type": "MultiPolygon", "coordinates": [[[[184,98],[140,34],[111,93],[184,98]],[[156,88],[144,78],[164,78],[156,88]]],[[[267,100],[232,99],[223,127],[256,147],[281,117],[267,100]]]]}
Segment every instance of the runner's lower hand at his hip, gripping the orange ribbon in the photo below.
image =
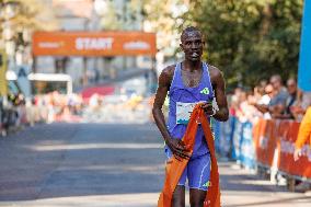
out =
{"type": "Polygon", "coordinates": [[[171,138],[166,142],[166,145],[177,160],[181,161],[182,159],[191,158],[191,154],[188,153],[188,150],[186,149],[185,143],[182,140],[171,138]]]}

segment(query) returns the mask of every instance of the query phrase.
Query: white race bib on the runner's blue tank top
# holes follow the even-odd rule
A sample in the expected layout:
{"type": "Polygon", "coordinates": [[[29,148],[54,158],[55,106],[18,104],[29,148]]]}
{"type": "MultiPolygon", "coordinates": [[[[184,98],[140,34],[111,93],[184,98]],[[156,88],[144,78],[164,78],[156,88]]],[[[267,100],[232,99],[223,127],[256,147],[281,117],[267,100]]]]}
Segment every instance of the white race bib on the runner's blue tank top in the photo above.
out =
{"type": "Polygon", "coordinates": [[[186,125],[197,103],[176,102],[176,124],[186,125]]]}

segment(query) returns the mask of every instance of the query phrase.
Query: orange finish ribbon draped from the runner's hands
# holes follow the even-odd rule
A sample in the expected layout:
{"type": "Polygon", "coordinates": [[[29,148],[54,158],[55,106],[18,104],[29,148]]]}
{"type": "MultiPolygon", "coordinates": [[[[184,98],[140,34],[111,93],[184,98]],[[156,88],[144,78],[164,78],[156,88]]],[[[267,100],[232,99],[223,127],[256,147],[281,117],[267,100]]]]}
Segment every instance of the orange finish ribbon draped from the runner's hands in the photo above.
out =
{"type": "MultiPolygon", "coordinates": [[[[204,207],[220,207],[220,187],[219,187],[219,174],[218,165],[215,153],[214,137],[210,130],[209,123],[204,111],[200,108],[200,105],[197,104],[192,113],[186,133],[183,137],[183,141],[191,153],[193,153],[193,147],[195,145],[195,136],[197,133],[198,124],[201,124],[204,129],[204,135],[210,151],[211,159],[211,170],[210,170],[210,185],[206,195],[204,207]]],[[[178,180],[187,165],[188,160],[182,159],[178,161],[175,157],[172,157],[165,168],[165,182],[163,191],[160,195],[158,207],[171,207],[172,196],[175,191],[175,187],[178,183],[178,180]]]]}

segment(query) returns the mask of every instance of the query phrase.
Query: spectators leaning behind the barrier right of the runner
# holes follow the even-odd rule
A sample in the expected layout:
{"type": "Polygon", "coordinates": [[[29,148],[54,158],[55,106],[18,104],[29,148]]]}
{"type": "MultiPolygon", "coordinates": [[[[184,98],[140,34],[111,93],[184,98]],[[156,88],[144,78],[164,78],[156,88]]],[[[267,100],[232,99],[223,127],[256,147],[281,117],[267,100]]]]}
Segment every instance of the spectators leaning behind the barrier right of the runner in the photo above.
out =
{"type": "Polygon", "coordinates": [[[269,81],[261,81],[253,90],[237,88],[229,101],[231,115],[253,124],[258,118],[300,122],[311,105],[311,93],[299,90],[293,78],[289,78],[286,85],[283,83],[281,77],[275,74],[269,81]]]}

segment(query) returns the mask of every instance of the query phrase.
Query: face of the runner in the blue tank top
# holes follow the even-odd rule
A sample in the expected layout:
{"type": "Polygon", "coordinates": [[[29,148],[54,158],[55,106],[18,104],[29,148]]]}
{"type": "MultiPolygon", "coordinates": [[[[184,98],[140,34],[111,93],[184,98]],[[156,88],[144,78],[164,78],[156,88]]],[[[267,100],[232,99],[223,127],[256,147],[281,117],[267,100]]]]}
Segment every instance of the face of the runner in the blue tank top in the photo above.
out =
{"type": "Polygon", "coordinates": [[[185,58],[191,61],[200,60],[204,42],[199,32],[187,32],[182,37],[181,47],[185,53],[185,58]]]}

